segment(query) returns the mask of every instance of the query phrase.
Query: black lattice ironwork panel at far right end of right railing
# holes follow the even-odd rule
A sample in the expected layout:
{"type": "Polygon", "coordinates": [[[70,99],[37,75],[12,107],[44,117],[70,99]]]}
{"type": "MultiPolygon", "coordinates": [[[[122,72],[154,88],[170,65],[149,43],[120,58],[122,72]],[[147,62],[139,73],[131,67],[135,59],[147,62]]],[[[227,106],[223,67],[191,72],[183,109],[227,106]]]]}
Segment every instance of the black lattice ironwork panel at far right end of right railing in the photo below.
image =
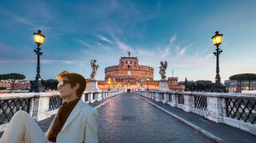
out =
{"type": "Polygon", "coordinates": [[[226,98],[227,117],[256,125],[256,100],[226,98]]]}

